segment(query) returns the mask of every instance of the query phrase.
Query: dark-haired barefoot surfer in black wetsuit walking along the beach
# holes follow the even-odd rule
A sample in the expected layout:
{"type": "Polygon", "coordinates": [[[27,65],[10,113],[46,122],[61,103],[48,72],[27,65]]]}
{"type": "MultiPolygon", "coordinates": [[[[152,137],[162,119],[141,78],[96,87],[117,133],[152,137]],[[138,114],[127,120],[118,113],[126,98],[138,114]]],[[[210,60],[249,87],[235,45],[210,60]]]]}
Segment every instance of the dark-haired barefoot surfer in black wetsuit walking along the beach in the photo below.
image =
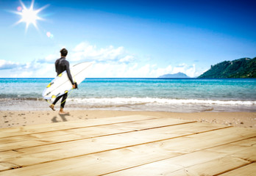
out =
{"type": "MultiPolygon", "coordinates": [[[[60,75],[60,73],[63,73],[63,71],[66,70],[67,74],[68,74],[68,78],[71,81],[71,84],[73,85],[73,89],[76,89],[77,86],[73,81],[73,78],[71,76],[70,73],[70,69],[69,69],[69,62],[65,59],[65,57],[68,55],[68,50],[66,50],[65,48],[60,50],[60,59],[57,59],[55,62],[55,70],[57,72],[57,76],[60,75]]],[[[55,111],[54,106],[57,103],[58,100],[60,100],[60,98],[63,98],[61,100],[60,103],[60,112],[59,114],[69,114],[69,112],[65,112],[64,111],[64,106],[65,106],[65,100],[68,98],[68,93],[65,93],[57,98],[55,98],[54,102],[50,105],[50,108],[55,111]]]]}

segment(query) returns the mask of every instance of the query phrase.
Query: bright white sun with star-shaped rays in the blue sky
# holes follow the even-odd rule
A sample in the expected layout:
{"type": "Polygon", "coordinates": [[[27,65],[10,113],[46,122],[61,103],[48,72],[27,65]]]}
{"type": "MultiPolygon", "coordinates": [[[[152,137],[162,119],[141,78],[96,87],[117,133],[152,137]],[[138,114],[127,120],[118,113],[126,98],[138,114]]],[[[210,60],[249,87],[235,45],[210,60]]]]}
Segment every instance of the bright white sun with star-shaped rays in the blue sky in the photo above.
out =
{"type": "Polygon", "coordinates": [[[40,20],[40,21],[43,21],[44,19],[43,18],[40,18],[38,16],[38,13],[40,11],[42,11],[43,9],[45,9],[46,7],[48,7],[48,5],[44,6],[44,7],[41,7],[40,9],[38,10],[34,10],[34,0],[32,0],[31,2],[31,5],[29,8],[26,8],[26,6],[24,5],[24,3],[21,1],[21,6],[22,7],[18,7],[17,10],[19,12],[15,12],[16,14],[18,15],[21,15],[21,20],[18,21],[17,23],[15,24],[18,24],[18,23],[26,23],[26,30],[29,28],[29,25],[30,24],[33,24],[35,26],[36,29],[38,29],[38,26],[37,26],[37,21],[40,20]]]}

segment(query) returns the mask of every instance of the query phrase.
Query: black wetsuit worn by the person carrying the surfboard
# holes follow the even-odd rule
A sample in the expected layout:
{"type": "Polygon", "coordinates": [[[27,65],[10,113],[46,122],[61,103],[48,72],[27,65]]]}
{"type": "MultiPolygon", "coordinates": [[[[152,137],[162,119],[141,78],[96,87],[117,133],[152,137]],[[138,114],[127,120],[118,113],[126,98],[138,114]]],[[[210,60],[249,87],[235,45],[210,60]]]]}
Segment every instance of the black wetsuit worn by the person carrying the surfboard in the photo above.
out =
{"type": "MultiPolygon", "coordinates": [[[[63,73],[63,71],[66,70],[67,74],[68,74],[68,78],[69,80],[71,81],[71,84],[73,85],[74,84],[74,81],[73,81],[73,78],[71,76],[71,73],[70,73],[70,69],[69,69],[69,62],[65,59],[65,57],[61,57],[60,59],[57,59],[56,62],[55,62],[55,70],[57,72],[57,76],[60,75],[60,73],[63,73]]],[[[68,98],[68,93],[65,93],[63,95],[60,95],[59,97],[57,97],[55,100],[54,100],[54,103],[52,104],[56,104],[58,100],[60,100],[60,98],[63,98],[61,100],[61,103],[60,103],[60,108],[64,108],[65,106],[65,100],[68,98]]]]}

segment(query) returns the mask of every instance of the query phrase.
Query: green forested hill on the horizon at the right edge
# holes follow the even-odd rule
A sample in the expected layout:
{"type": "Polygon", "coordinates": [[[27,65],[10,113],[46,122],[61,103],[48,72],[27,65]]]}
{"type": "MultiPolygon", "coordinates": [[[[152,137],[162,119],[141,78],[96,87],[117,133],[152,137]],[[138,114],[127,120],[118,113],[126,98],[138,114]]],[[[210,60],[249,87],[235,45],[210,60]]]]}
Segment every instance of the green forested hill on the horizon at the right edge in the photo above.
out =
{"type": "Polygon", "coordinates": [[[198,78],[256,78],[256,57],[224,61],[212,65],[198,78]]]}

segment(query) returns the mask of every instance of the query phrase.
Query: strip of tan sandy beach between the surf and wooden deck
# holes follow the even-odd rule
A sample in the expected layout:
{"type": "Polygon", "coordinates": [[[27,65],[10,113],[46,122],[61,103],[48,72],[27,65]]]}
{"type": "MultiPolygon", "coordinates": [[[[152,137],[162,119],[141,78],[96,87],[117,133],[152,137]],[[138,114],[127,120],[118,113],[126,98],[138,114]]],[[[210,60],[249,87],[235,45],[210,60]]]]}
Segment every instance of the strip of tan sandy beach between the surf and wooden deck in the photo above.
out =
{"type": "Polygon", "coordinates": [[[0,128],[11,128],[35,124],[48,124],[74,120],[89,120],[105,117],[119,117],[142,114],[156,117],[170,117],[181,120],[232,125],[242,128],[256,128],[256,112],[194,112],[176,113],[165,111],[106,111],[106,110],[72,110],[68,115],[58,111],[0,111],[0,128]]]}

